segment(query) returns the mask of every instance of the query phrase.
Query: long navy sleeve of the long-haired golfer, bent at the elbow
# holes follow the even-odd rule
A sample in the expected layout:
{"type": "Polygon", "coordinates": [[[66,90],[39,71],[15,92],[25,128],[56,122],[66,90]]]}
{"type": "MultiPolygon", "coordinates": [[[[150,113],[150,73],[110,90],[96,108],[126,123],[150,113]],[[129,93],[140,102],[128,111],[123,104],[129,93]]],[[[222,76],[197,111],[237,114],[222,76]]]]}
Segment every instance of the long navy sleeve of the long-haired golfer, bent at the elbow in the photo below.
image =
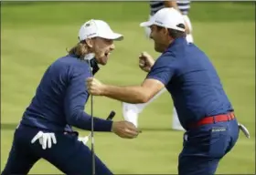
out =
{"type": "MultiPolygon", "coordinates": [[[[91,130],[91,115],[84,112],[85,104],[89,98],[89,93],[85,87],[86,78],[91,77],[90,72],[84,67],[76,67],[69,72],[69,87],[64,102],[67,122],[79,129],[91,130]]],[[[94,117],[93,126],[95,131],[111,131],[112,121],[94,117]]]]}

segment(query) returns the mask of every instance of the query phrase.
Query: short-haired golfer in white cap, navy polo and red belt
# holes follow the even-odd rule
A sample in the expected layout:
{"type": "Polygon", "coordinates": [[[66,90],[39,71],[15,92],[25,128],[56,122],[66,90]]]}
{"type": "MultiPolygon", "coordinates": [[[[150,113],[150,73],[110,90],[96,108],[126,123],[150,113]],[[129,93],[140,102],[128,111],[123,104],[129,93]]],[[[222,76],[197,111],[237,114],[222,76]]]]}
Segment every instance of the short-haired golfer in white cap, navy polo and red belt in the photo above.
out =
{"type": "Polygon", "coordinates": [[[185,21],[176,9],[163,8],[141,26],[151,28],[155,51],[162,53],[156,61],[147,53],[140,57],[140,67],[148,72],[144,82],[118,87],[89,77],[87,88],[92,95],[133,104],[145,103],[166,88],[179,121],[187,130],[178,157],[178,174],[214,174],[219,160],[234,148],[239,138],[234,108],[219,75],[208,56],[196,45],[187,43],[185,21]]]}

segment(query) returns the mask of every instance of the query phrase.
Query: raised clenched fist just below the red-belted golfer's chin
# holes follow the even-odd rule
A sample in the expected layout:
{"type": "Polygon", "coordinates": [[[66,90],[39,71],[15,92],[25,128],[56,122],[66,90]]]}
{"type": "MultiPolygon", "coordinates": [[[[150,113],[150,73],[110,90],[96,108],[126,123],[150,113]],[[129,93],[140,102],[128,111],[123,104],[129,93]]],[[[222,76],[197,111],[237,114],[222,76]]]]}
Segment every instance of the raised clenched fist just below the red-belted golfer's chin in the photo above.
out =
{"type": "Polygon", "coordinates": [[[139,57],[139,67],[145,72],[149,72],[155,64],[155,60],[148,53],[143,52],[139,57]]]}

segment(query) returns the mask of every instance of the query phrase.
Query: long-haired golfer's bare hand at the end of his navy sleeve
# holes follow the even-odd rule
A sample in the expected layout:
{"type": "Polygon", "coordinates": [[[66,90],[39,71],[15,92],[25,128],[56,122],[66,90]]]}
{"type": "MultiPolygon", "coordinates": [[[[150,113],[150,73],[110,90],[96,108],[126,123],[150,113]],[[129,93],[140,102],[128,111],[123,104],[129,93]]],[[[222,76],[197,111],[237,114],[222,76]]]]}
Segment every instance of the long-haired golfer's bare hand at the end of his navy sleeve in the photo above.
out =
{"type": "Polygon", "coordinates": [[[124,139],[136,138],[140,130],[129,121],[114,121],[112,123],[112,132],[124,139]]]}

